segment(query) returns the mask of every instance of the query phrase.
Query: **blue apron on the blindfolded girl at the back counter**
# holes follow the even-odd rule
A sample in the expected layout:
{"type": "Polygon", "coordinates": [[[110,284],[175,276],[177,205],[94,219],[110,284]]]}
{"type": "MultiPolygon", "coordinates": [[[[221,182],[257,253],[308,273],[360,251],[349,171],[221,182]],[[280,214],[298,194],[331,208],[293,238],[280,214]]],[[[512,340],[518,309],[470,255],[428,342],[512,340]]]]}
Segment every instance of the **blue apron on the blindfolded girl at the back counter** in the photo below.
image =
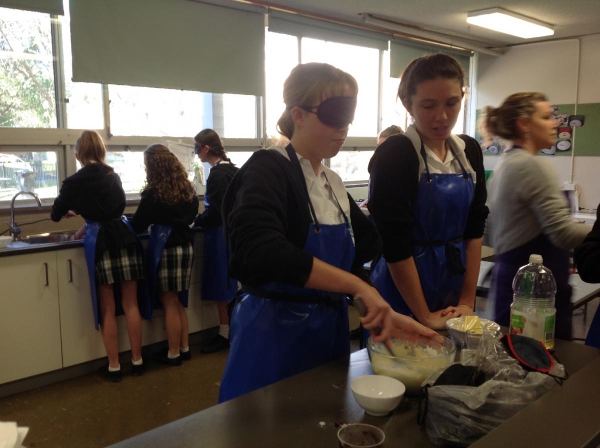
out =
{"type": "MultiPolygon", "coordinates": [[[[204,206],[211,204],[204,196],[204,206]]],[[[204,234],[204,263],[202,276],[202,299],[229,302],[238,292],[238,282],[227,276],[227,242],[223,225],[208,228],[204,234]]]]}

